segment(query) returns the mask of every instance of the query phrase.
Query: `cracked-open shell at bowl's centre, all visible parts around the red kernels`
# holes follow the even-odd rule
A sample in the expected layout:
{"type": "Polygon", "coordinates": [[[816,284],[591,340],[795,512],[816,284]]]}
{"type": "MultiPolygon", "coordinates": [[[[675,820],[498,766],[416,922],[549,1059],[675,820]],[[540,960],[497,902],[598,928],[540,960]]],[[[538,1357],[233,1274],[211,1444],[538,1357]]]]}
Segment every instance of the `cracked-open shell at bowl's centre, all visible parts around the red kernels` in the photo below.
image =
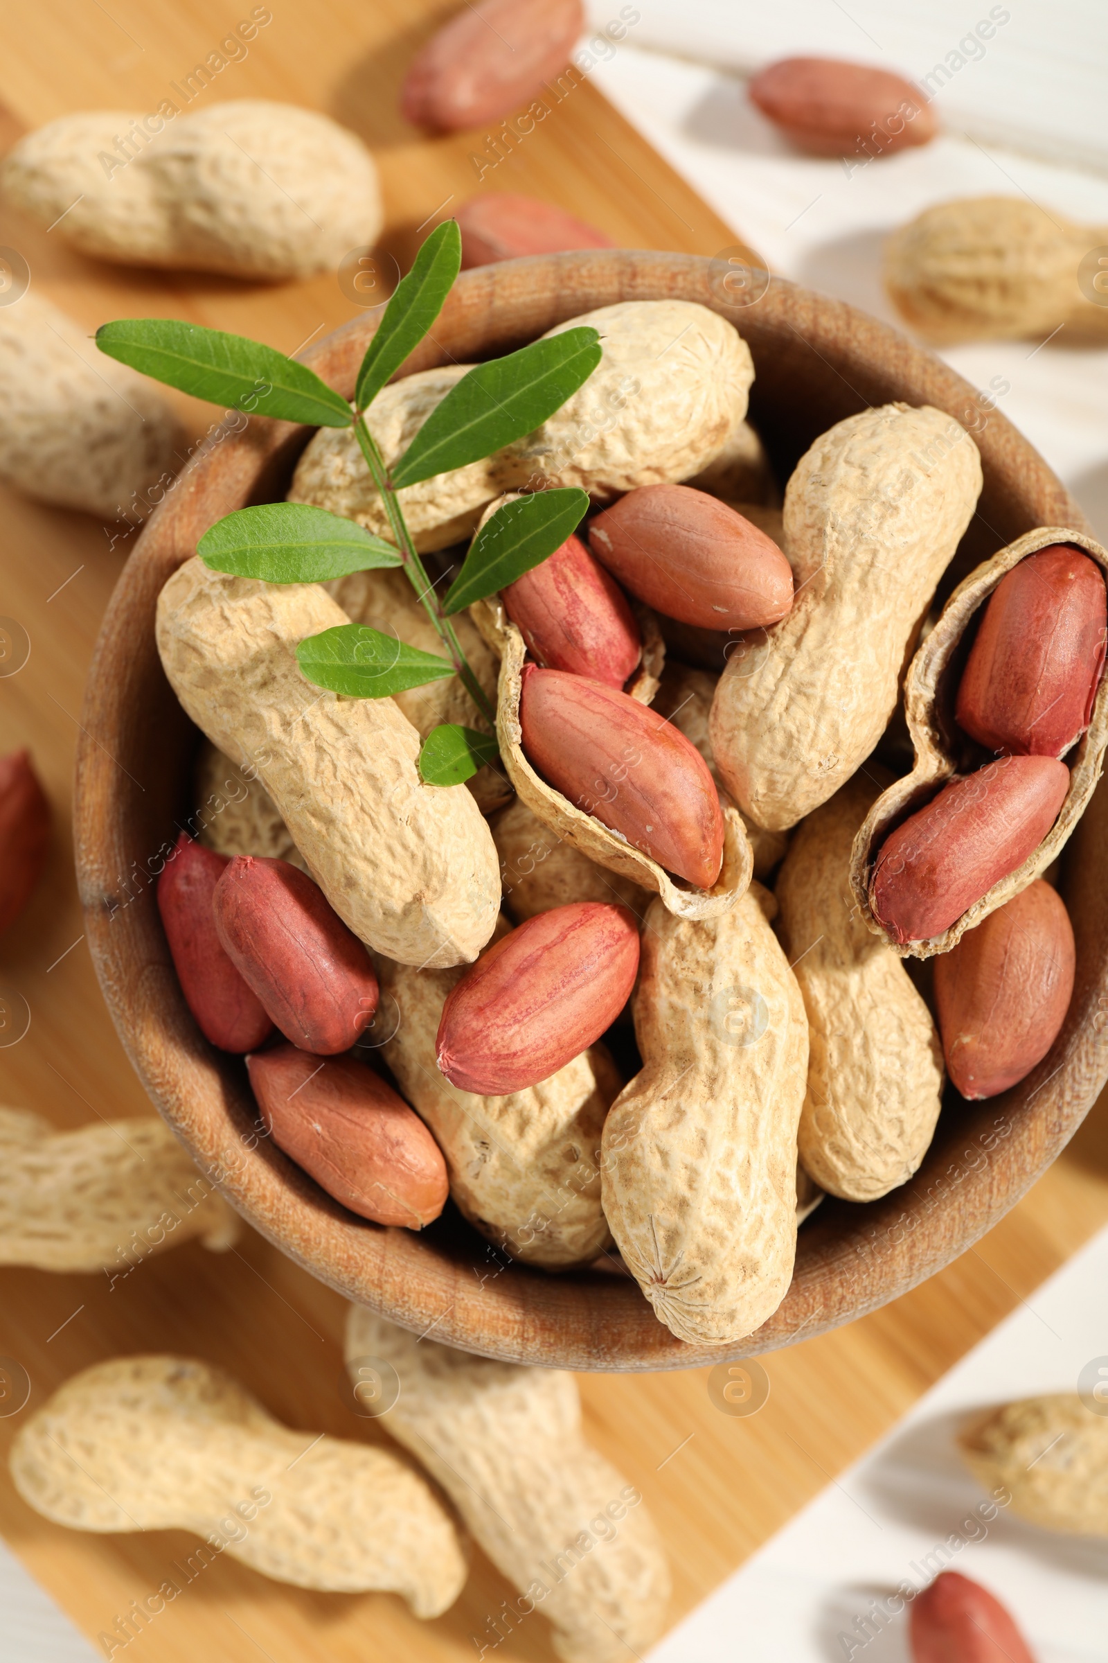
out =
{"type": "MultiPolygon", "coordinates": [[[[498,595],[490,600],[478,600],[470,607],[470,615],[490,647],[500,654],[500,683],[497,688],[497,738],[500,740],[500,757],[520,800],[532,813],[550,827],[556,836],[571,843],[581,855],[588,855],[598,866],[606,866],[621,878],[631,878],[653,895],[659,895],[663,903],[678,918],[716,918],[726,913],[738,898],[749,888],[754,875],[754,855],[746,827],[738,808],[723,803],[723,868],[711,890],[694,890],[683,878],[673,878],[656,860],[633,848],[616,832],[610,832],[593,815],[576,808],[568,797],[556,792],[553,785],[535,773],[523,755],[523,733],[520,728],[520,682],[527,645],[515,624],[503,610],[498,595]]],[[[648,624],[658,629],[653,614],[646,609],[638,614],[643,629],[643,662],[635,679],[628,685],[628,693],[648,705],[658,692],[658,675],[663,669],[664,645],[661,635],[653,639],[648,624]]]]}

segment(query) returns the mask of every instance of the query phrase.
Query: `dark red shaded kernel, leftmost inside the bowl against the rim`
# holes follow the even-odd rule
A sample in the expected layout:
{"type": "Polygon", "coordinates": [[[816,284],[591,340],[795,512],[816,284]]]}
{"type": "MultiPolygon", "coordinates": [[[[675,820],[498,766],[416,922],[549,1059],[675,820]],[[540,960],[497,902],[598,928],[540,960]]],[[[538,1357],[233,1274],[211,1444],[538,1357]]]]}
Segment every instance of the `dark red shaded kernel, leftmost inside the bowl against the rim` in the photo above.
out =
{"type": "Polygon", "coordinates": [[[181,832],[158,878],[158,911],[199,1031],[221,1051],[254,1051],[272,1023],[254,989],[228,958],[216,931],[213,896],[231,861],[181,832]]]}

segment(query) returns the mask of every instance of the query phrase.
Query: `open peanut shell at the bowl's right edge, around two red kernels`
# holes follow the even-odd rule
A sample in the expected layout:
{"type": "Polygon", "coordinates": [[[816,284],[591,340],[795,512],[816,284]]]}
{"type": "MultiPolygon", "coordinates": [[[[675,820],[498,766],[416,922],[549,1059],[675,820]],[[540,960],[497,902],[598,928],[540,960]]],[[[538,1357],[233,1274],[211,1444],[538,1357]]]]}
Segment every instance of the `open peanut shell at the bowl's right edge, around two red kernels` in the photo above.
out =
{"type": "Polygon", "coordinates": [[[942,617],[909,665],[904,682],[904,713],[915,750],[915,765],[909,775],[880,793],[859,828],[851,851],[851,888],[862,918],[874,935],[889,941],[900,958],[932,958],[935,953],[949,953],[967,930],[973,930],[983,918],[988,918],[998,906],[1042,876],[1047,866],[1058,858],[1085,813],[1101,775],[1105,747],[1108,745],[1108,675],[1101,679],[1086,732],[1066,752],[1070,790],[1058,818],[1023,865],[1005,878],[998,878],[949,930],[925,941],[895,943],[874,916],[869,905],[869,881],[877,850],[889,833],[917,808],[922,808],[954,773],[970,773],[993,760],[993,752],[987,752],[970,740],[955,722],[958,682],[973,645],[983,604],[1000,579],[1028,554],[1038,554],[1040,549],[1055,542],[1068,542],[1083,549],[1108,577],[1108,552],[1085,532],[1060,526],[1028,530],[1000,554],[995,554],[992,560],[985,560],[970,572],[963,584],[958,584],[944,607],[942,617]]]}

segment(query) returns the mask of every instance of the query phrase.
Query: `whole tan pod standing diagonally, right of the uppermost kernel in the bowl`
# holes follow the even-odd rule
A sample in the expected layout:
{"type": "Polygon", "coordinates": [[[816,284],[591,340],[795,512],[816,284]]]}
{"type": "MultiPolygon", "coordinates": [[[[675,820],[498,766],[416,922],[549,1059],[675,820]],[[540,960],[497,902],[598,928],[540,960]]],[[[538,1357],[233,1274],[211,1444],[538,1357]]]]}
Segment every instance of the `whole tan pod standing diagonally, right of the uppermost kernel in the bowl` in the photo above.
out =
{"type": "Polygon", "coordinates": [[[980,489],[977,446],[932,406],[849,416],[797,462],[784,504],[796,602],[731,654],[711,713],[719,772],[757,825],[796,825],[869,757],[980,489]]]}

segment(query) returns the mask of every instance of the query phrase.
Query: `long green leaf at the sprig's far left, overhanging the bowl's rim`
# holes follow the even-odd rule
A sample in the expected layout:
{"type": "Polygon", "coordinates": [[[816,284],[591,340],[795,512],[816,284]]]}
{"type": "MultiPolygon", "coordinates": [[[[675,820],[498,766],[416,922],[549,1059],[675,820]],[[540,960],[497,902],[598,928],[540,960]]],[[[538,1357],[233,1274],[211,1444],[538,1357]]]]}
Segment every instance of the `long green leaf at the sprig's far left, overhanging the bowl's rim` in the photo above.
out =
{"type": "Polygon", "coordinates": [[[272,346],[173,318],[130,318],[96,329],[96,346],[154,381],[279,421],[349,427],[351,406],[326,381],[272,346]]]}

